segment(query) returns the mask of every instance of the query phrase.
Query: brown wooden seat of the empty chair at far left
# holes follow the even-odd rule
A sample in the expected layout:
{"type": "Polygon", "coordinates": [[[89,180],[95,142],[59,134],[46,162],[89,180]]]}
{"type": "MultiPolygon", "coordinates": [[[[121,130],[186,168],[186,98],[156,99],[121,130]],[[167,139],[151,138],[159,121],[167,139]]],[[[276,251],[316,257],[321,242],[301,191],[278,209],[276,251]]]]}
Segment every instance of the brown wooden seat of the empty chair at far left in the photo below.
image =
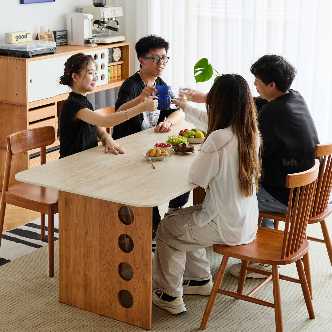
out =
{"type": "Polygon", "coordinates": [[[14,205],[17,205],[18,200],[20,200],[23,205],[38,203],[38,205],[43,207],[56,207],[59,201],[55,189],[29,183],[19,183],[10,187],[5,192],[5,197],[8,204],[11,204],[11,199],[15,200],[14,205]]]}

